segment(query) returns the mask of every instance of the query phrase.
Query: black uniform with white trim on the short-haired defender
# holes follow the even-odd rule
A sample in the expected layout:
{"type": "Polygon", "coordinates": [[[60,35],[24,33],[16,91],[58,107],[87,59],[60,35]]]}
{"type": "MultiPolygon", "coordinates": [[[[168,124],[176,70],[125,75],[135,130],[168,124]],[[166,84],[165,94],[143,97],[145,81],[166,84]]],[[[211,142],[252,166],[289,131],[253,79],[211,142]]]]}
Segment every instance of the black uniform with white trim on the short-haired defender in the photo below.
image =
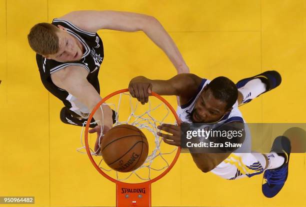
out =
{"type": "Polygon", "coordinates": [[[73,62],[57,62],[53,59],[46,59],[40,54],[36,54],[40,79],[44,87],[58,97],[66,107],[81,117],[87,118],[90,112],[89,109],[66,90],[53,84],[50,75],[69,65],[81,66],[88,72],[88,82],[93,85],[98,93],[100,93],[97,75],[104,57],[102,40],[97,33],[84,31],[64,19],[54,18],[52,24],[65,27],[69,34],[81,42],[84,47],[84,52],[80,60],[73,62]]]}

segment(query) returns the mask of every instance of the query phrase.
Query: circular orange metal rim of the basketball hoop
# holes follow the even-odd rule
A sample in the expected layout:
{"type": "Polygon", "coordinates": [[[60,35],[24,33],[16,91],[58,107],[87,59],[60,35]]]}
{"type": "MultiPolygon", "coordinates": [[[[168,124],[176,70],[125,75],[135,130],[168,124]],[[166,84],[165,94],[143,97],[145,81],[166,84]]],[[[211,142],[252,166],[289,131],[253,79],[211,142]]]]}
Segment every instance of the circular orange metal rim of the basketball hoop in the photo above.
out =
{"type": "MultiPolygon", "coordinates": [[[[106,177],[107,179],[111,180],[112,182],[115,182],[115,183],[128,183],[128,182],[121,182],[119,180],[116,180],[112,177],[110,177],[109,175],[107,175],[105,172],[103,172],[103,170],[101,170],[99,168],[99,166],[95,163],[95,161],[93,160],[93,157],[90,153],[90,150],[89,150],[89,145],[88,145],[88,130],[89,130],[89,125],[90,125],[90,121],[93,117],[93,114],[95,113],[95,111],[100,107],[100,105],[105,102],[107,99],[109,99],[110,97],[116,95],[116,94],[119,94],[119,93],[122,93],[122,92],[128,92],[128,89],[125,88],[125,89],[121,89],[121,90],[117,90],[115,92],[112,92],[110,94],[108,94],[107,96],[105,96],[102,100],[100,100],[96,105],[95,107],[92,109],[91,113],[89,114],[89,117],[88,117],[88,120],[87,120],[87,123],[86,123],[86,127],[85,127],[85,147],[86,147],[86,152],[87,152],[87,155],[91,161],[91,163],[93,164],[93,166],[95,167],[95,169],[100,173],[102,174],[104,177],[106,177]]],[[[159,100],[161,100],[162,102],[164,102],[167,107],[171,110],[172,114],[174,115],[175,119],[176,119],[176,122],[178,125],[180,125],[180,121],[178,119],[178,116],[175,112],[175,110],[173,109],[173,107],[170,105],[170,103],[168,103],[168,101],[166,101],[163,97],[161,97],[160,95],[158,95],[157,93],[155,92],[152,92],[151,95],[157,97],[159,100]]],[[[179,156],[179,153],[180,153],[180,146],[177,148],[177,151],[176,151],[176,154],[175,154],[175,157],[174,159],[172,160],[171,164],[169,165],[169,167],[164,170],[161,174],[159,174],[157,177],[154,177],[153,179],[151,180],[148,180],[148,181],[145,181],[145,182],[139,182],[139,183],[152,183],[152,182],[155,182],[156,180],[160,179],[161,177],[163,177],[166,173],[168,173],[170,171],[170,169],[174,166],[174,164],[176,163],[177,159],[178,159],[178,156],[179,156]]],[[[133,184],[133,183],[129,183],[129,184],[133,184]]]]}

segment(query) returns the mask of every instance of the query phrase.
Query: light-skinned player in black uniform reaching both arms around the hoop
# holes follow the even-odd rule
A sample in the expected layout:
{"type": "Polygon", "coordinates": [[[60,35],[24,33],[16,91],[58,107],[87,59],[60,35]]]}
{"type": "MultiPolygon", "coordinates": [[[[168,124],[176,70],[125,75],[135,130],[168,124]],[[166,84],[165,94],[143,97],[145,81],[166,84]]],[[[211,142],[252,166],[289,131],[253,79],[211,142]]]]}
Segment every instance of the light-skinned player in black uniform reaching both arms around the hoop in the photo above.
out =
{"type": "MultiPolygon", "coordinates": [[[[82,125],[101,100],[97,76],[104,51],[102,39],[96,33],[99,29],[143,31],[165,52],[177,73],[189,71],[169,34],[149,15],[84,10],[54,18],[51,23],[37,23],[27,35],[28,42],[36,52],[42,84],[64,104],[60,111],[64,123],[82,125]]],[[[102,105],[102,109],[106,131],[112,127],[114,114],[107,105],[102,105]]],[[[101,120],[101,115],[99,109],[94,119],[101,120]]]]}

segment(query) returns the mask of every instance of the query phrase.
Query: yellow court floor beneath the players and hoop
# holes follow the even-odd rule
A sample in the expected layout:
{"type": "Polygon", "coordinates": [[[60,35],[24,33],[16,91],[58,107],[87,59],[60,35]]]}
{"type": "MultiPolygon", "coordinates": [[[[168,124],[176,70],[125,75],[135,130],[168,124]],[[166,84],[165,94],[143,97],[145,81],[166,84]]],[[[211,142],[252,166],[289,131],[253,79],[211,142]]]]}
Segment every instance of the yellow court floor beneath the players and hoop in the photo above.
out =
{"type": "MultiPolygon", "coordinates": [[[[26,35],[32,25],[72,10],[124,10],[156,17],[190,72],[234,82],[275,69],[282,83],[240,107],[247,122],[306,122],[306,0],[0,0],[0,196],[35,196],[30,206],[114,206],[115,186],[79,154],[80,127],[59,120],[62,103],[43,87],[26,35]]],[[[101,95],[137,75],[175,75],[142,32],[100,30],[101,95]]],[[[175,97],[166,97],[176,106],[175,97]]],[[[292,154],[274,198],[262,174],[224,180],[197,169],[190,154],[152,184],[153,206],[306,206],[306,154],[292,154]]],[[[0,207],[2,205],[0,204],[0,207]]],[[[3,205],[5,206],[5,205],[3,205]]],[[[22,206],[11,204],[9,206],[22,206]]]]}

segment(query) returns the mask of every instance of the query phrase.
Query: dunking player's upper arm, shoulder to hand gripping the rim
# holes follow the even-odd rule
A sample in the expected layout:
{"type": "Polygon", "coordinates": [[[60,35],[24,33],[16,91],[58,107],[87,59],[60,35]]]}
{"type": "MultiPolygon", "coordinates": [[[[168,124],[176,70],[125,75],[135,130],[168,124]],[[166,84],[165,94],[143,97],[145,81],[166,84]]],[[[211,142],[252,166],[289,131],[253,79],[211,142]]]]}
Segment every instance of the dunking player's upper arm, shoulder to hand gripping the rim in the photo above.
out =
{"type": "Polygon", "coordinates": [[[184,104],[196,93],[201,80],[202,78],[192,73],[177,74],[168,80],[137,76],[130,80],[128,90],[131,96],[137,98],[142,104],[148,101],[152,91],[159,95],[177,95],[180,102],[184,104]]]}

